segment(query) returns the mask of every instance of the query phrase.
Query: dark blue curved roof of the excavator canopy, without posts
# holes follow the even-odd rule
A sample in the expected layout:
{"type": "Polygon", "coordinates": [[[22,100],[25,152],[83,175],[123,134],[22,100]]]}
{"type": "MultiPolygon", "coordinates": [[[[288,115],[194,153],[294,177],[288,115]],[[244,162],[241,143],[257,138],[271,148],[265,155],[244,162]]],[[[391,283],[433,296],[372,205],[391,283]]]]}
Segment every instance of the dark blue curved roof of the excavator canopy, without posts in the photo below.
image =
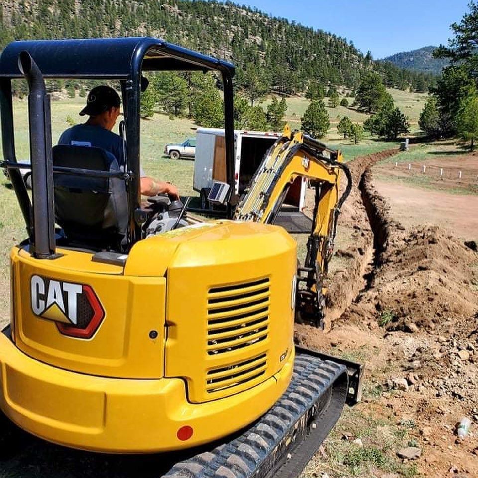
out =
{"type": "Polygon", "coordinates": [[[18,55],[26,50],[45,77],[126,78],[134,70],[219,70],[234,65],[158,38],[27,40],[10,43],[0,57],[0,77],[23,77],[18,55]]]}

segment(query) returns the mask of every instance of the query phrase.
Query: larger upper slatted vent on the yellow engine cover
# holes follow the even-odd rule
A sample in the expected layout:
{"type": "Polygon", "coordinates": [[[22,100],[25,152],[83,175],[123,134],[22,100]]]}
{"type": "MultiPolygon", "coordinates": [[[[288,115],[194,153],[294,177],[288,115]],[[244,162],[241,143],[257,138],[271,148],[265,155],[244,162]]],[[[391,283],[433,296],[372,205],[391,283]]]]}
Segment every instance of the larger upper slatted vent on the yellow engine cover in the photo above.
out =
{"type": "Polygon", "coordinates": [[[214,287],[208,293],[207,353],[231,352],[267,339],[269,279],[214,287]]]}

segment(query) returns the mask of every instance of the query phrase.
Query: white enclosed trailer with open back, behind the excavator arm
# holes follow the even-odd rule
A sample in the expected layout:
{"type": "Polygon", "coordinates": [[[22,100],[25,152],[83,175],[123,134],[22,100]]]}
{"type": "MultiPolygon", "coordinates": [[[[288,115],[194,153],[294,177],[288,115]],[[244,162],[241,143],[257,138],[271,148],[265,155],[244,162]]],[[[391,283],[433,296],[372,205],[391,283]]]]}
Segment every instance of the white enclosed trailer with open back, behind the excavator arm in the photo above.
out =
{"type": "MultiPolygon", "coordinates": [[[[259,167],[265,153],[277,141],[279,133],[234,131],[234,188],[241,195],[259,167]]],[[[200,194],[201,207],[207,209],[207,197],[213,181],[227,182],[224,129],[198,128],[193,188],[200,194]]],[[[285,203],[299,211],[305,203],[306,180],[297,178],[290,187],[285,203]]]]}

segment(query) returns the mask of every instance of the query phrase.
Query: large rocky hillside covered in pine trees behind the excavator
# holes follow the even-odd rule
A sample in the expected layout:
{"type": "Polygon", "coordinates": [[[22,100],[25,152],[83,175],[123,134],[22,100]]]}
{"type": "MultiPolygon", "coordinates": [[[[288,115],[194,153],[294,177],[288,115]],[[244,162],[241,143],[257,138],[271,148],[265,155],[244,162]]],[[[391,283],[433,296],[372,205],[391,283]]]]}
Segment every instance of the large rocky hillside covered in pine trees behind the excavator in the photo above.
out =
{"type": "MultiPolygon", "coordinates": [[[[357,88],[375,69],[387,86],[426,91],[432,75],[374,62],[352,42],[226,2],[0,0],[0,47],[13,39],[152,35],[234,62],[236,85],[279,94],[311,80],[357,88]]],[[[327,27],[324,21],[324,27],[327,27]]]]}

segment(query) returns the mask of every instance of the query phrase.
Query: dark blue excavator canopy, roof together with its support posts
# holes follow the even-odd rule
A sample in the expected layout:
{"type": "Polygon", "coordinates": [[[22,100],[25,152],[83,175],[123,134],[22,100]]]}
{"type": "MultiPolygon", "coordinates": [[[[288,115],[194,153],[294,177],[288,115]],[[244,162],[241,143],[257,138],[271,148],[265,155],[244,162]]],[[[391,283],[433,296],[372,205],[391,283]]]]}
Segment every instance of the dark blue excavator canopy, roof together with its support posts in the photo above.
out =
{"type": "MultiPolygon", "coordinates": [[[[0,106],[2,146],[5,165],[10,171],[13,188],[18,198],[29,236],[34,236],[35,225],[31,222],[31,202],[23,181],[14,169],[18,168],[14,144],[14,119],[11,80],[23,78],[20,70],[20,55],[28,54],[43,78],[82,78],[119,80],[124,111],[122,135],[126,139],[126,158],[129,176],[129,249],[141,237],[141,222],[138,219],[141,195],[140,178],[140,98],[147,86],[143,71],[216,71],[223,81],[224,127],[227,182],[234,188],[234,119],[233,119],[233,76],[231,63],[197,53],[164,40],[150,37],[139,38],[93,38],[72,40],[28,40],[14,41],[7,45],[0,57],[0,106]]],[[[41,77],[41,78],[40,78],[41,77]]],[[[44,95],[44,93],[43,93],[44,95]]],[[[31,95],[30,95],[31,96],[31,95]]],[[[51,137],[50,107],[40,116],[45,117],[46,136],[51,137]]],[[[31,113],[30,113],[31,115],[31,113]]],[[[36,124],[34,121],[33,123],[36,124]]],[[[33,124],[30,123],[30,124],[33,124]]],[[[45,132],[39,132],[39,136],[45,132]]],[[[50,137],[48,138],[51,141],[50,137]]],[[[36,149],[36,147],[33,147],[36,149]]],[[[50,149],[50,148],[47,148],[50,149]]],[[[30,158],[35,163],[34,158],[30,158]]],[[[44,160],[44,159],[43,159],[44,160]]],[[[32,170],[35,180],[35,172],[32,170]]],[[[45,191],[46,185],[33,188],[37,196],[45,191]]],[[[45,204],[48,201],[45,199],[45,204]]],[[[44,215],[47,216],[46,214],[44,215]]],[[[48,229],[46,225],[42,229],[48,229]]]]}

